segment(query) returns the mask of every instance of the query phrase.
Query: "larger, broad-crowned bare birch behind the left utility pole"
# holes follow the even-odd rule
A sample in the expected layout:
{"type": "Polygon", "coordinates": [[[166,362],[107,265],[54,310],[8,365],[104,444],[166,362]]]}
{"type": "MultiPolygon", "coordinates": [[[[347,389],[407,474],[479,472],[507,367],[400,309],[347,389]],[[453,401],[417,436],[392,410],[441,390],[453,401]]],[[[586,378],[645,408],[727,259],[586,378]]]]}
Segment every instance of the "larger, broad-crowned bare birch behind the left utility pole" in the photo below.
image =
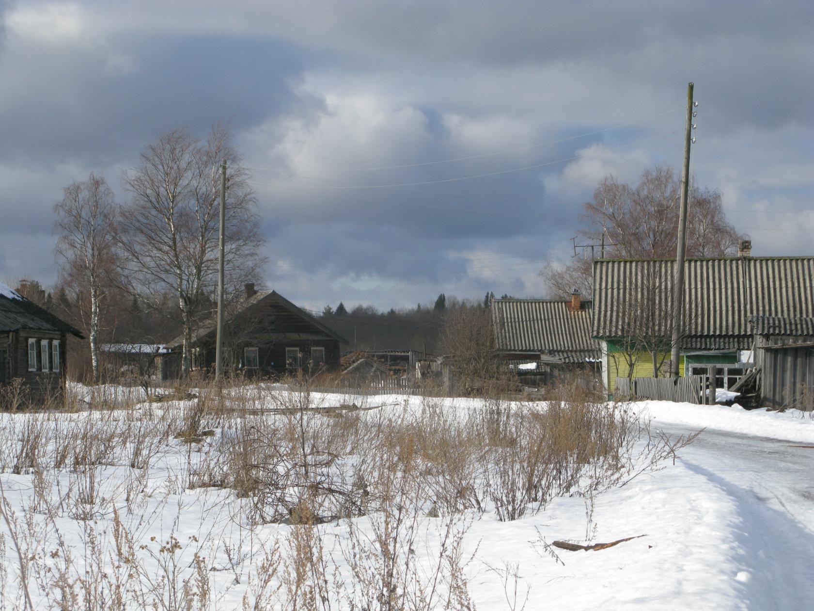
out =
{"type": "Polygon", "coordinates": [[[229,130],[214,125],[205,141],[186,130],[161,134],[124,177],[132,197],[121,211],[119,245],[128,287],[156,308],[167,294],[177,300],[185,376],[195,324],[211,314],[217,284],[221,159],[229,166],[225,272],[234,293],[244,280],[255,279],[263,240],[254,193],[229,130]]]}

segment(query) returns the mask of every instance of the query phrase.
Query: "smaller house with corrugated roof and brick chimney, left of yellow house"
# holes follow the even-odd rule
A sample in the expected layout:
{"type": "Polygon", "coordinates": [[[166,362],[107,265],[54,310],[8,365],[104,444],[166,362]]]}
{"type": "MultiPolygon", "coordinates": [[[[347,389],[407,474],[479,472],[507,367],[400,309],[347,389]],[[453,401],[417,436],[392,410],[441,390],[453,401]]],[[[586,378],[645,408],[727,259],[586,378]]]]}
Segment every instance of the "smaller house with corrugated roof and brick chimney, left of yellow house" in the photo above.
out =
{"type": "Polygon", "coordinates": [[[558,373],[589,370],[602,363],[591,337],[591,301],[574,292],[570,300],[495,299],[492,329],[498,356],[523,377],[549,382],[558,373]]]}

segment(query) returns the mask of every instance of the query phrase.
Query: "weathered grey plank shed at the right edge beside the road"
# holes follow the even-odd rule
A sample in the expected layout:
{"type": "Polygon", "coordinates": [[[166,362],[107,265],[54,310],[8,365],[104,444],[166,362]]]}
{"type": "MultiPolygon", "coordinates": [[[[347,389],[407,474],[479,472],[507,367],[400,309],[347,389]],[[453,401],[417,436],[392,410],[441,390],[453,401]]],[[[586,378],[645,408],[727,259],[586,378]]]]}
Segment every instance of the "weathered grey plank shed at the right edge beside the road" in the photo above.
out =
{"type": "Polygon", "coordinates": [[[753,316],[761,405],[814,409],[814,318],[753,316]]]}

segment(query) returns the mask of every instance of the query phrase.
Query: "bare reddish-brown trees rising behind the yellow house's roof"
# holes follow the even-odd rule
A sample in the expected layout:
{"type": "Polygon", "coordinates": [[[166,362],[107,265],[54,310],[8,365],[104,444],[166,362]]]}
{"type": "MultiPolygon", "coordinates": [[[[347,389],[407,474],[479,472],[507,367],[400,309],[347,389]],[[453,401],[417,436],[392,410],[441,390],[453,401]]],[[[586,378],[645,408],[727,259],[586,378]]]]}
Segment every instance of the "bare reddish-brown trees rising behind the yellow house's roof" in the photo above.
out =
{"type": "MultiPolygon", "coordinates": [[[[687,257],[733,255],[739,235],[726,220],[720,191],[695,186],[691,181],[687,217],[687,257]]],[[[606,176],[584,204],[584,229],[580,235],[599,244],[606,236],[606,257],[624,259],[673,258],[678,240],[681,182],[665,165],[646,169],[636,185],[606,176]]],[[[599,256],[597,250],[594,250],[599,256]]],[[[589,253],[575,257],[568,266],[546,266],[540,275],[549,291],[567,297],[574,288],[591,294],[593,259],[589,253]]]]}

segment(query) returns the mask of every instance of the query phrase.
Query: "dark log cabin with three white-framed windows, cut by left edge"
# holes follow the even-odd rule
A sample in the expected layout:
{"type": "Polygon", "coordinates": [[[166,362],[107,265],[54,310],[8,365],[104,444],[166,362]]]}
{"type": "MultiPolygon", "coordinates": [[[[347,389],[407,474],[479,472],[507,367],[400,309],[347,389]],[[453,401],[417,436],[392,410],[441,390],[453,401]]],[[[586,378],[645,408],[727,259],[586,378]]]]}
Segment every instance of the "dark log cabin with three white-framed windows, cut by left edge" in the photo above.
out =
{"type": "Polygon", "coordinates": [[[62,402],[68,333],[82,337],[76,328],[0,283],[0,402],[11,400],[9,389],[15,384],[20,389],[18,405],[62,402]]]}

